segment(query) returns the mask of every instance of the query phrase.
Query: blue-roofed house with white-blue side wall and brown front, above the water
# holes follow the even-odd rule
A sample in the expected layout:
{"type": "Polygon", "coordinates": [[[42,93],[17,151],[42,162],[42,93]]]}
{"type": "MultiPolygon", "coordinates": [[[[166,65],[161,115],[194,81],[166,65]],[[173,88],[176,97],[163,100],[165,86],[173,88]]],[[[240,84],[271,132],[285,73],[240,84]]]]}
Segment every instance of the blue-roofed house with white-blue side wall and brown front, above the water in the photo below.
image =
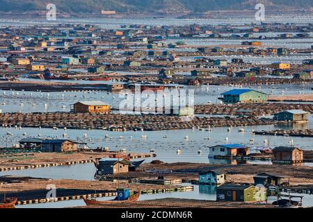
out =
{"type": "Polygon", "coordinates": [[[225,157],[235,157],[235,156],[246,156],[249,154],[248,146],[241,144],[221,144],[209,147],[209,157],[214,156],[225,156],[225,157]]]}

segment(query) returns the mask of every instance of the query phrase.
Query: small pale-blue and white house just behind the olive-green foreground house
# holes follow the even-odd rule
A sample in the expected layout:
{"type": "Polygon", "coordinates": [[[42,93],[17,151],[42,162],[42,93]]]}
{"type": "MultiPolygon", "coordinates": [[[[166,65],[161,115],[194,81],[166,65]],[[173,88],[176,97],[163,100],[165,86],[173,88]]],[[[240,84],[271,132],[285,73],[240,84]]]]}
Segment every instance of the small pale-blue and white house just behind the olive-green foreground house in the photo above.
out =
{"type": "Polygon", "coordinates": [[[226,180],[226,172],[222,170],[211,170],[199,173],[199,184],[223,185],[226,180]]]}

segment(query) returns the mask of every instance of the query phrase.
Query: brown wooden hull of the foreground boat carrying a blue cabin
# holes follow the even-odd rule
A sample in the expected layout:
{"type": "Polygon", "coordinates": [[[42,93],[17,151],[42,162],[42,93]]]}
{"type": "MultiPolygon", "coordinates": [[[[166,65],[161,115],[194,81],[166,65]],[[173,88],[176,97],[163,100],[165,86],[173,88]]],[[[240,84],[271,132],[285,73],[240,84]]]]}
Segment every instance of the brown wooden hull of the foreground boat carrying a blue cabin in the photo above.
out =
{"type": "Polygon", "coordinates": [[[111,204],[115,204],[115,203],[132,203],[132,202],[136,202],[138,200],[138,198],[141,195],[140,191],[134,191],[134,194],[132,194],[131,196],[129,196],[128,198],[123,198],[121,192],[118,192],[118,196],[115,197],[113,200],[104,200],[104,201],[98,201],[95,199],[88,199],[83,197],[83,201],[85,201],[86,205],[90,206],[90,205],[111,205],[111,204]]]}

